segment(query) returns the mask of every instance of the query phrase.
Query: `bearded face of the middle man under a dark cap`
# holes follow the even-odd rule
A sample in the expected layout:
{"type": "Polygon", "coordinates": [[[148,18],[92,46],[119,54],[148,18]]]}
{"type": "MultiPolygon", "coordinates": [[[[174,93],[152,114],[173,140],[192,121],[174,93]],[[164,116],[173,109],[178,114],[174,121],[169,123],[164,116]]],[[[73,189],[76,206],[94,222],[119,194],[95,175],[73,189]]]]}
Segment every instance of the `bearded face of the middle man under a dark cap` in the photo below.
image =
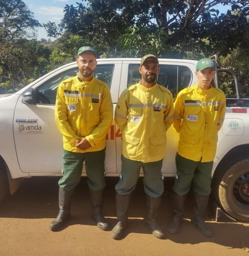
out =
{"type": "Polygon", "coordinates": [[[159,65],[153,60],[145,61],[144,64],[139,67],[142,80],[148,83],[154,83],[156,81],[159,70],[159,65]]]}

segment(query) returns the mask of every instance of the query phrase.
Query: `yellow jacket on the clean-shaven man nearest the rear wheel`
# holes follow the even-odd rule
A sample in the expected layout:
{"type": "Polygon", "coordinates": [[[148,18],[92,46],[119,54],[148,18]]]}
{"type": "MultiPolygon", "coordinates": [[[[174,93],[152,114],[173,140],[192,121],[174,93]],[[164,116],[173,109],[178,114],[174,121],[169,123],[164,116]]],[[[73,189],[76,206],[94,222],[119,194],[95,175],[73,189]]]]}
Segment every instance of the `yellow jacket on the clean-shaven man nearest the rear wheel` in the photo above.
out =
{"type": "Polygon", "coordinates": [[[180,91],[173,122],[180,134],[179,155],[193,161],[213,161],[225,111],[225,94],[217,88],[201,90],[195,85],[180,91]]]}

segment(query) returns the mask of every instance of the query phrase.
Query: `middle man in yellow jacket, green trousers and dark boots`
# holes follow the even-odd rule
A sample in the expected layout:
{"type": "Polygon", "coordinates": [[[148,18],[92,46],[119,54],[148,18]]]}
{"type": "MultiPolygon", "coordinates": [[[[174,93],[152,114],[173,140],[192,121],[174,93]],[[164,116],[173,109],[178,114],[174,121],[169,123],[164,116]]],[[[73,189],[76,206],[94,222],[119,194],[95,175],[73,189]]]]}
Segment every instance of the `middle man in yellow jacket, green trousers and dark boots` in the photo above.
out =
{"type": "Polygon", "coordinates": [[[111,232],[113,239],[123,236],[130,194],[135,189],[140,168],[144,171],[144,190],[147,194],[146,224],[155,237],[164,237],[156,215],[164,191],[161,167],[166,130],[172,124],[174,113],[173,99],[167,88],[156,83],[159,62],[154,55],[141,58],[139,72],[141,82],[124,90],[115,110],[115,121],[122,132],[123,150],[120,179],[115,186],[118,224],[111,232]]]}

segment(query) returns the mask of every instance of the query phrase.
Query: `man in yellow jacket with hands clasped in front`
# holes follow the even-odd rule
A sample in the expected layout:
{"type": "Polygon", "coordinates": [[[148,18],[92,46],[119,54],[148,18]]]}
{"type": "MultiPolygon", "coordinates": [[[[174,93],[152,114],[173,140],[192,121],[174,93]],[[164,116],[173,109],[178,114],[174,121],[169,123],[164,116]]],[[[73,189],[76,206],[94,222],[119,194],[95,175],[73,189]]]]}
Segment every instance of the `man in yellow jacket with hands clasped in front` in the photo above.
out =
{"type": "Polygon", "coordinates": [[[70,204],[80,181],[83,161],[88,176],[92,218],[108,229],[103,207],[105,136],[113,120],[113,105],[106,83],[93,76],[96,53],[83,46],[76,59],[78,75],[63,81],[57,91],[55,121],[63,135],[63,177],[59,180],[59,214],[50,224],[57,231],[70,218],[70,204]]]}

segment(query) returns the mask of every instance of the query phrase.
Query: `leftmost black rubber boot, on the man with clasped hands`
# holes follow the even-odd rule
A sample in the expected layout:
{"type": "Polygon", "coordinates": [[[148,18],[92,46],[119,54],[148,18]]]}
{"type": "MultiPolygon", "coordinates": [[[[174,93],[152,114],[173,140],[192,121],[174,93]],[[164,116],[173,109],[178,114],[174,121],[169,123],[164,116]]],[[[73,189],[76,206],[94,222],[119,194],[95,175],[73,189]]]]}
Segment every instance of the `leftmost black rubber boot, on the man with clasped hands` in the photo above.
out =
{"type": "Polygon", "coordinates": [[[74,189],[68,191],[59,188],[59,213],[57,218],[50,223],[52,231],[60,230],[63,225],[70,219],[70,206],[74,189]]]}

